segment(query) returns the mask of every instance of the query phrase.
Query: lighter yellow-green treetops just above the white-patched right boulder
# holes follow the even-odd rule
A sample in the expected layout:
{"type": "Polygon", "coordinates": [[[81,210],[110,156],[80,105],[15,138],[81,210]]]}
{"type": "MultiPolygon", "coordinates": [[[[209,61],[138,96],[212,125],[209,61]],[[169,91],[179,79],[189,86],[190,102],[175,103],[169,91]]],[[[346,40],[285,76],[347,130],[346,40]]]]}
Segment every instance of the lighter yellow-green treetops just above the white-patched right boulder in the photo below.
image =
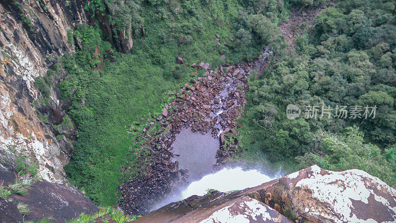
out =
{"type": "Polygon", "coordinates": [[[347,127],[345,136],[327,132],[318,132],[315,136],[314,147],[321,148],[323,154],[305,153],[302,157],[296,157],[301,168],[315,164],[333,171],[357,168],[389,185],[396,184],[395,173],[381,149],[370,143],[364,144],[363,133],[357,127],[347,127]]]}

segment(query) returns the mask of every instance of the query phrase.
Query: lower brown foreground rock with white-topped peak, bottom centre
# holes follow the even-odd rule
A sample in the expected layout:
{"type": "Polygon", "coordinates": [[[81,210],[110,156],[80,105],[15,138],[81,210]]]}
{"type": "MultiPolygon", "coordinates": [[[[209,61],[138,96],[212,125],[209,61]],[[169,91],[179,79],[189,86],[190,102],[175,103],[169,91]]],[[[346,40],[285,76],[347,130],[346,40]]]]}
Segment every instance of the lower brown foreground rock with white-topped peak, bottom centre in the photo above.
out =
{"type": "Polygon", "coordinates": [[[226,223],[265,222],[291,223],[266,204],[247,196],[228,197],[221,192],[199,197],[191,196],[183,201],[170,203],[134,223],[226,223]]]}

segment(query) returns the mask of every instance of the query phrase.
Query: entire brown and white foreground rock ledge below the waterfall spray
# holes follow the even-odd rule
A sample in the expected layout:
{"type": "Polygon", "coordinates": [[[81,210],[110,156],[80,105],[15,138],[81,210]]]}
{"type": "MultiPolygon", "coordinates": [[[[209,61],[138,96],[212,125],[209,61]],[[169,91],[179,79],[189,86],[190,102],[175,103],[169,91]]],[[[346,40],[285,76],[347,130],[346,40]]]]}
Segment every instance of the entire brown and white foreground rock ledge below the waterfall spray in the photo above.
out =
{"type": "Polygon", "coordinates": [[[358,170],[312,166],[253,188],[168,204],[141,222],[395,222],[396,190],[358,170]]]}

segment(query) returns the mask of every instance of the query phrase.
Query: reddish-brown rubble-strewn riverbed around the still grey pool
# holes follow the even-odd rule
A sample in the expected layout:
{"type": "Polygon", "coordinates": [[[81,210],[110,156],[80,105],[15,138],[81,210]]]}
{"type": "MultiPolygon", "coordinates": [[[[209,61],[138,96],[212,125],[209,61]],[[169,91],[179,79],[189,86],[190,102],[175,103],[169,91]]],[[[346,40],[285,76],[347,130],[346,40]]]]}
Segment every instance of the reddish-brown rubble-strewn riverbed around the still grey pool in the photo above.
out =
{"type": "Polygon", "coordinates": [[[139,154],[139,161],[123,167],[125,173],[138,169],[138,177],[131,176],[118,188],[118,205],[128,214],[148,213],[150,207],[165,199],[173,188],[188,182],[189,170],[179,169],[179,162],[172,161],[178,155],[174,154],[172,145],[182,129],[210,133],[220,141],[220,147],[214,153],[214,168],[228,157],[242,153],[237,146],[236,120],[246,103],[246,79],[251,68],[247,63],[212,68],[209,63],[201,62],[191,66],[197,71],[205,69],[205,75],[193,77],[177,92],[167,95],[162,113],[153,115],[152,121],[147,122],[142,117],[141,123],[135,123],[134,131],[140,133],[136,143],[145,152],[132,149],[139,154]]]}

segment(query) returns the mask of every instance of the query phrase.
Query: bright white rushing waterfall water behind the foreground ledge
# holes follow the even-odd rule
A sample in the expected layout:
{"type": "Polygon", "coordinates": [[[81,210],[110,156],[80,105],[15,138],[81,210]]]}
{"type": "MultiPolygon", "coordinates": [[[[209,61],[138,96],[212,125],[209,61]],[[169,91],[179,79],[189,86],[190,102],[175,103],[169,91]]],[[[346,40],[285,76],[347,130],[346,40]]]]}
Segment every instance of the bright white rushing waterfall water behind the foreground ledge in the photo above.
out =
{"type": "Polygon", "coordinates": [[[242,167],[225,167],[217,172],[209,173],[197,181],[191,182],[187,187],[180,188],[162,202],[159,202],[151,211],[161,208],[171,202],[184,200],[192,195],[203,196],[208,189],[220,192],[243,190],[255,187],[262,183],[279,178],[281,175],[268,176],[256,169],[243,169],[242,167]]]}

